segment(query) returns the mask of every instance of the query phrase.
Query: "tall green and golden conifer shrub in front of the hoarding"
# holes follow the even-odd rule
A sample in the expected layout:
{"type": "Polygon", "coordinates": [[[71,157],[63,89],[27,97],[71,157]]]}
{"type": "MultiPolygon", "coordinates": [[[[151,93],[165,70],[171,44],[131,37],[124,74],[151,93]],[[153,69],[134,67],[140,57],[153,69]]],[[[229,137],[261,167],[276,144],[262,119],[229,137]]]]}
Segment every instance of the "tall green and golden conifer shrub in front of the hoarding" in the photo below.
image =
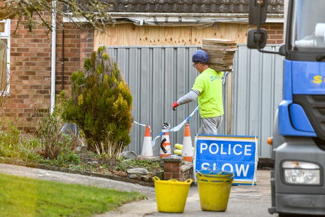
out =
{"type": "MultiPolygon", "coordinates": [[[[116,63],[100,47],[71,76],[72,92],[63,118],[84,132],[88,150],[122,149],[131,142],[132,94],[116,63]],[[122,147],[121,147],[122,146],[122,147]]],[[[114,154],[114,153],[113,153],[114,154]]]]}

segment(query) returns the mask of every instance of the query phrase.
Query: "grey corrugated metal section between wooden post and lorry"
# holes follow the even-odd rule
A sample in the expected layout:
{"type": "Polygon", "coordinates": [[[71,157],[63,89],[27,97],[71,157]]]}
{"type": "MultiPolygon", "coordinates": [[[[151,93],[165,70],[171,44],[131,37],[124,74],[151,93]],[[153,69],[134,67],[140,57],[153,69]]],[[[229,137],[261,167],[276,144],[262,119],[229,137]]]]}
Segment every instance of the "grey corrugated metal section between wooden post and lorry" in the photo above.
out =
{"type": "MultiPolygon", "coordinates": [[[[234,59],[232,134],[259,137],[258,156],[271,157],[267,138],[282,99],[282,57],[239,45],[234,59]]],[[[267,46],[277,50],[278,46],[267,46]]]]}

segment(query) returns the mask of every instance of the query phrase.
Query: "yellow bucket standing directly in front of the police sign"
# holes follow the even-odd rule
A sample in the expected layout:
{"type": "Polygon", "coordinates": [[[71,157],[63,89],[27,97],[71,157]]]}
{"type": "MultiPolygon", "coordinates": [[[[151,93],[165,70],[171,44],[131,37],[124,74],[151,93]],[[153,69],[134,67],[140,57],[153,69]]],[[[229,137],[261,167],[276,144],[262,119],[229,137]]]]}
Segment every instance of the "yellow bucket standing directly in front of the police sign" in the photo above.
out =
{"type": "Polygon", "coordinates": [[[231,176],[206,177],[197,173],[201,209],[206,211],[225,211],[234,179],[231,176]]]}

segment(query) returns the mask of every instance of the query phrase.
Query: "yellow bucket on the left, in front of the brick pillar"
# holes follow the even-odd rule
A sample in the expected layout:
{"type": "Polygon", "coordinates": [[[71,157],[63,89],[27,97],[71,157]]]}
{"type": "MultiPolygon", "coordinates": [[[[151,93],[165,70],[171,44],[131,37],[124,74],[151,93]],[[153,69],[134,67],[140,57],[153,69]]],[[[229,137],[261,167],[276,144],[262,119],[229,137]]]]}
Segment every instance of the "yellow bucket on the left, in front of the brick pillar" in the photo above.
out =
{"type": "Polygon", "coordinates": [[[186,198],[193,179],[178,181],[176,179],[160,180],[153,177],[159,212],[184,212],[186,198]]]}

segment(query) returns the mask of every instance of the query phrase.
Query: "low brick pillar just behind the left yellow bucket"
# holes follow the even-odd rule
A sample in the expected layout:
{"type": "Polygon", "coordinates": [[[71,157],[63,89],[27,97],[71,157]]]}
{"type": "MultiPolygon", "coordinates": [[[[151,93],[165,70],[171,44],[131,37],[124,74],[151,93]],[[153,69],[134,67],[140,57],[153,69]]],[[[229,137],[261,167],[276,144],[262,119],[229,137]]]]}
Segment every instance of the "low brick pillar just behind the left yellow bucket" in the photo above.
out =
{"type": "Polygon", "coordinates": [[[164,161],[164,180],[181,179],[181,166],[183,158],[178,156],[168,156],[162,158],[164,161]]]}

